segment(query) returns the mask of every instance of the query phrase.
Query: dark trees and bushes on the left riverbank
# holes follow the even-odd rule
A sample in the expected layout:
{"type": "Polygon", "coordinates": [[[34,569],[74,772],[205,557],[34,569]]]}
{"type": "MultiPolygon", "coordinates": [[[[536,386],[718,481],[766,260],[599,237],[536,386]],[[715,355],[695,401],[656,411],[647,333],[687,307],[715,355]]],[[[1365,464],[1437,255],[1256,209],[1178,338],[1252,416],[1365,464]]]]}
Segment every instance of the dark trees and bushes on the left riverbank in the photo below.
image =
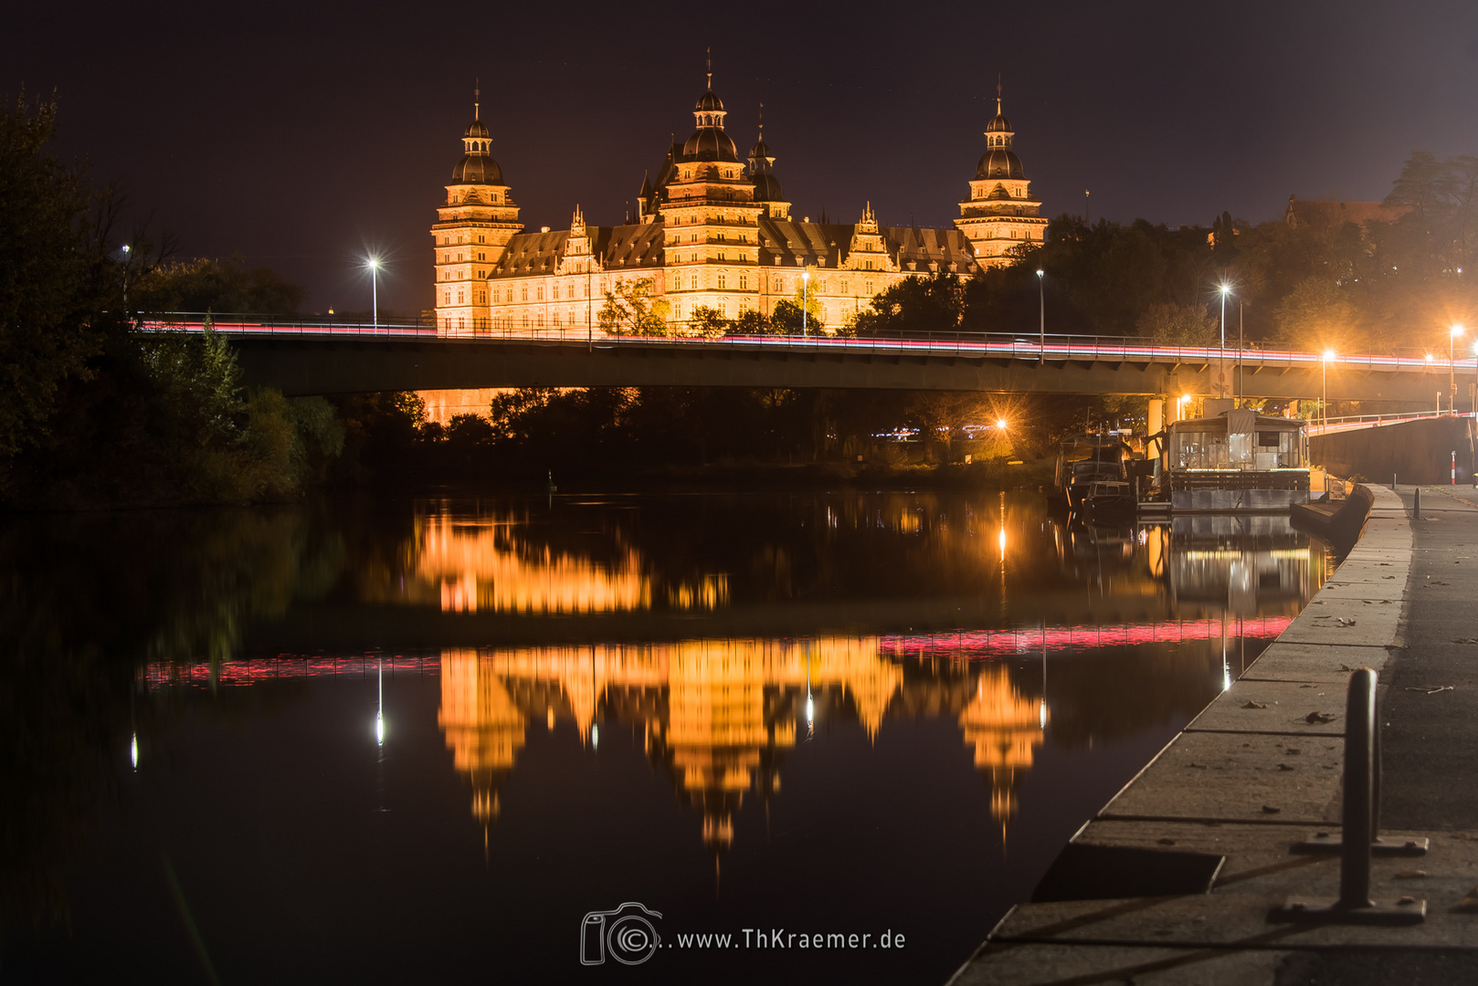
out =
{"type": "Polygon", "coordinates": [[[327,401],[247,392],[223,339],[130,316],[291,310],[302,288],[120,234],[123,195],[47,151],[55,124],[24,95],[0,112],[0,503],[251,503],[324,477],[343,446],[327,401]]]}

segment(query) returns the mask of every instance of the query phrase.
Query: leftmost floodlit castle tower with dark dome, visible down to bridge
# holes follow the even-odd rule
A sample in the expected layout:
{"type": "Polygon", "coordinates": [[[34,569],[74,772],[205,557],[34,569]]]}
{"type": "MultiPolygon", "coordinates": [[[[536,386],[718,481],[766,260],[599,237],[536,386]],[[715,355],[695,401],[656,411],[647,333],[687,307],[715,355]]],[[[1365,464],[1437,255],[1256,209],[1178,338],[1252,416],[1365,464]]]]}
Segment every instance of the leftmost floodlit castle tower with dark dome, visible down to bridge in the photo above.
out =
{"type": "Polygon", "coordinates": [[[523,226],[503,183],[503,169],[489,154],[492,137],[480,118],[474,90],[473,120],[463,133],[463,160],[452,169],[446,201],[436,210],[436,331],[470,336],[491,328],[488,282],[508,239],[523,226]]]}

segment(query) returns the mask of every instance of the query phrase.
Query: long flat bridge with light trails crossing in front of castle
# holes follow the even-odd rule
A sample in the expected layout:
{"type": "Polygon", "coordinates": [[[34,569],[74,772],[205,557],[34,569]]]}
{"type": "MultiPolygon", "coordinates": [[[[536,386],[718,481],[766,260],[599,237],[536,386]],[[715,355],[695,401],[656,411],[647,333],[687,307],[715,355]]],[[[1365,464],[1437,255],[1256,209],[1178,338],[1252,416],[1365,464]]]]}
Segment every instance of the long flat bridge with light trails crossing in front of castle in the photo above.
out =
{"type": "MultiPolygon", "coordinates": [[[[151,316],[148,330],[201,331],[201,316],[151,316]]],[[[476,387],[859,387],[995,393],[1222,395],[1435,405],[1472,356],[1349,355],[1153,346],[1137,339],[912,333],[903,337],[563,333],[443,336],[415,324],[213,319],[247,381],[290,396],[476,387]]],[[[1444,401],[1445,402],[1445,401],[1444,401]]]]}

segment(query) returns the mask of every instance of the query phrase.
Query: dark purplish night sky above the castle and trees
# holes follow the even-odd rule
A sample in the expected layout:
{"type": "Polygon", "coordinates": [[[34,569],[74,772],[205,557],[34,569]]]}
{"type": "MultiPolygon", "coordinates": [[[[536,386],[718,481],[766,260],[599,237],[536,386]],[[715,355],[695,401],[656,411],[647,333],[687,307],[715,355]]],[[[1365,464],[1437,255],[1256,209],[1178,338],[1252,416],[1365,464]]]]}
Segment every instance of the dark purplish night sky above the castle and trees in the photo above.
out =
{"type": "Polygon", "coordinates": [[[1169,225],[1375,200],[1413,149],[1478,152],[1472,3],[12,4],[0,92],[56,90],[59,152],[185,256],[241,254],[368,307],[432,302],[429,228],[480,75],[529,228],[619,222],[714,89],[757,105],[797,216],[946,225],[996,72],[1043,211],[1169,225]]]}

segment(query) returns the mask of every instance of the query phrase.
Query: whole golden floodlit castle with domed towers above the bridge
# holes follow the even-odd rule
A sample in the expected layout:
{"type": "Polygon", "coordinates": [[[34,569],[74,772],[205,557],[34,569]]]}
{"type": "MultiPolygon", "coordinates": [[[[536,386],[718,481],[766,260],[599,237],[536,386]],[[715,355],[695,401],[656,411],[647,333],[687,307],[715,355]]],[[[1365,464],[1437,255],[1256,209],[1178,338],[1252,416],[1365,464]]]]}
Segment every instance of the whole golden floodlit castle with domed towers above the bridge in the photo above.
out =
{"type": "Polygon", "coordinates": [[[1001,266],[1046,232],[999,98],[956,229],[881,226],[871,204],[854,223],[795,220],[763,123],[746,163],[726,115],[709,72],[692,136],[643,179],[636,216],[591,226],[576,207],[568,229],[523,232],[474,102],[432,228],[437,328],[584,333],[616,281],[650,282],[652,310],[670,322],[699,307],[770,315],[777,302],[800,303],[804,282],[810,310],[835,327],[903,278],[1001,266]]]}

